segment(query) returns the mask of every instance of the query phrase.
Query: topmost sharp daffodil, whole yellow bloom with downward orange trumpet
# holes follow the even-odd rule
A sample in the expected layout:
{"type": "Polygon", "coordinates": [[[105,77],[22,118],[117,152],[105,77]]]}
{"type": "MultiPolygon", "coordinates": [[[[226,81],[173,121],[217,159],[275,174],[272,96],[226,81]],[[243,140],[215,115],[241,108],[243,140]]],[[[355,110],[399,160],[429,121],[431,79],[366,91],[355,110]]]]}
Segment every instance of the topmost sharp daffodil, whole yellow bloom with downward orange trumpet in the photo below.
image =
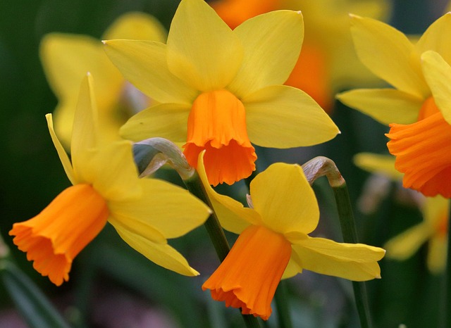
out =
{"type": "Polygon", "coordinates": [[[202,0],[182,0],[167,44],[110,40],[106,53],[132,84],[159,104],[122,127],[132,140],[164,137],[185,142],[197,167],[206,149],[211,184],[251,175],[264,147],[310,146],[338,128],[310,96],[281,85],[302,45],[302,15],[274,11],[235,30],[202,0]]]}

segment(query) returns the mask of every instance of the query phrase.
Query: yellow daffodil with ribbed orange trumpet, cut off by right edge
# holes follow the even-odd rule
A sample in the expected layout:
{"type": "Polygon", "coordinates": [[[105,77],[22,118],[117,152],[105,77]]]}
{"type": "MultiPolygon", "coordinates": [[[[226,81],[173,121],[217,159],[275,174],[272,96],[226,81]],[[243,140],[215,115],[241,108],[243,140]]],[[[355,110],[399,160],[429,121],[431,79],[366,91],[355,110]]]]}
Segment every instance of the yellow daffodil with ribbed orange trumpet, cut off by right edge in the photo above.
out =
{"type": "Polygon", "coordinates": [[[451,197],[451,13],[435,21],[416,44],[370,18],[352,16],[361,61],[394,89],[357,89],[338,99],[390,125],[388,150],[404,173],[403,185],[425,196],[451,197]]]}

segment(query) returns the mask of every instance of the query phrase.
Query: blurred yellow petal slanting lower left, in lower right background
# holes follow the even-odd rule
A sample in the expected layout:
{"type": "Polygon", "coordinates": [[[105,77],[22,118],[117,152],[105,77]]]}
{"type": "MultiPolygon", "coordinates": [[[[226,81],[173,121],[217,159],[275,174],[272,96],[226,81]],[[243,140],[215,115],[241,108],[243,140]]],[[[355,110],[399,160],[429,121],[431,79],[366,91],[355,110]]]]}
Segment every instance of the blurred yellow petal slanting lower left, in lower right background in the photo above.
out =
{"type": "Polygon", "coordinates": [[[387,257],[395,258],[397,260],[409,258],[418,251],[420,246],[423,245],[432,234],[432,227],[423,223],[407,229],[385,243],[384,248],[387,250],[387,257]]]}

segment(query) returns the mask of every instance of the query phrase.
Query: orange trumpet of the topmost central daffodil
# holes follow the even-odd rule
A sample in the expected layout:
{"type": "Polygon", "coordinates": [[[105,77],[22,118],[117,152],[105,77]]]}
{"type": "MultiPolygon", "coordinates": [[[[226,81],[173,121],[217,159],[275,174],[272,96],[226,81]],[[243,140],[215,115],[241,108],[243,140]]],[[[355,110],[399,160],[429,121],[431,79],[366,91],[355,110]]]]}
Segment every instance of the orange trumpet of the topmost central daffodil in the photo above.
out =
{"type": "Polygon", "coordinates": [[[224,89],[204,92],[194,101],[183,147],[194,168],[199,153],[206,149],[206,176],[214,186],[233,184],[255,170],[257,155],[247,137],[245,106],[224,89]]]}

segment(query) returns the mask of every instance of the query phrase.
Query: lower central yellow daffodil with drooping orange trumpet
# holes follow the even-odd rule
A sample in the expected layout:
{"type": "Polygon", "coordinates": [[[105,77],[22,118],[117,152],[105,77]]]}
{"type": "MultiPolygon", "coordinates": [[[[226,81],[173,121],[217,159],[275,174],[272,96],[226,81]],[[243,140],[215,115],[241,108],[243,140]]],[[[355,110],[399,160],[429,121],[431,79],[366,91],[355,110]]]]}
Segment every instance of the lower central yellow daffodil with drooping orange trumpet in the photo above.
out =
{"type": "Polygon", "coordinates": [[[281,278],[311,270],[364,281],[380,278],[382,248],[340,244],[309,236],[319,222],[313,189],[299,165],[276,163],[250,184],[252,208],[217,194],[199,155],[199,176],[221,225],[240,234],[226,259],[202,289],[217,301],[267,320],[281,278]]]}

